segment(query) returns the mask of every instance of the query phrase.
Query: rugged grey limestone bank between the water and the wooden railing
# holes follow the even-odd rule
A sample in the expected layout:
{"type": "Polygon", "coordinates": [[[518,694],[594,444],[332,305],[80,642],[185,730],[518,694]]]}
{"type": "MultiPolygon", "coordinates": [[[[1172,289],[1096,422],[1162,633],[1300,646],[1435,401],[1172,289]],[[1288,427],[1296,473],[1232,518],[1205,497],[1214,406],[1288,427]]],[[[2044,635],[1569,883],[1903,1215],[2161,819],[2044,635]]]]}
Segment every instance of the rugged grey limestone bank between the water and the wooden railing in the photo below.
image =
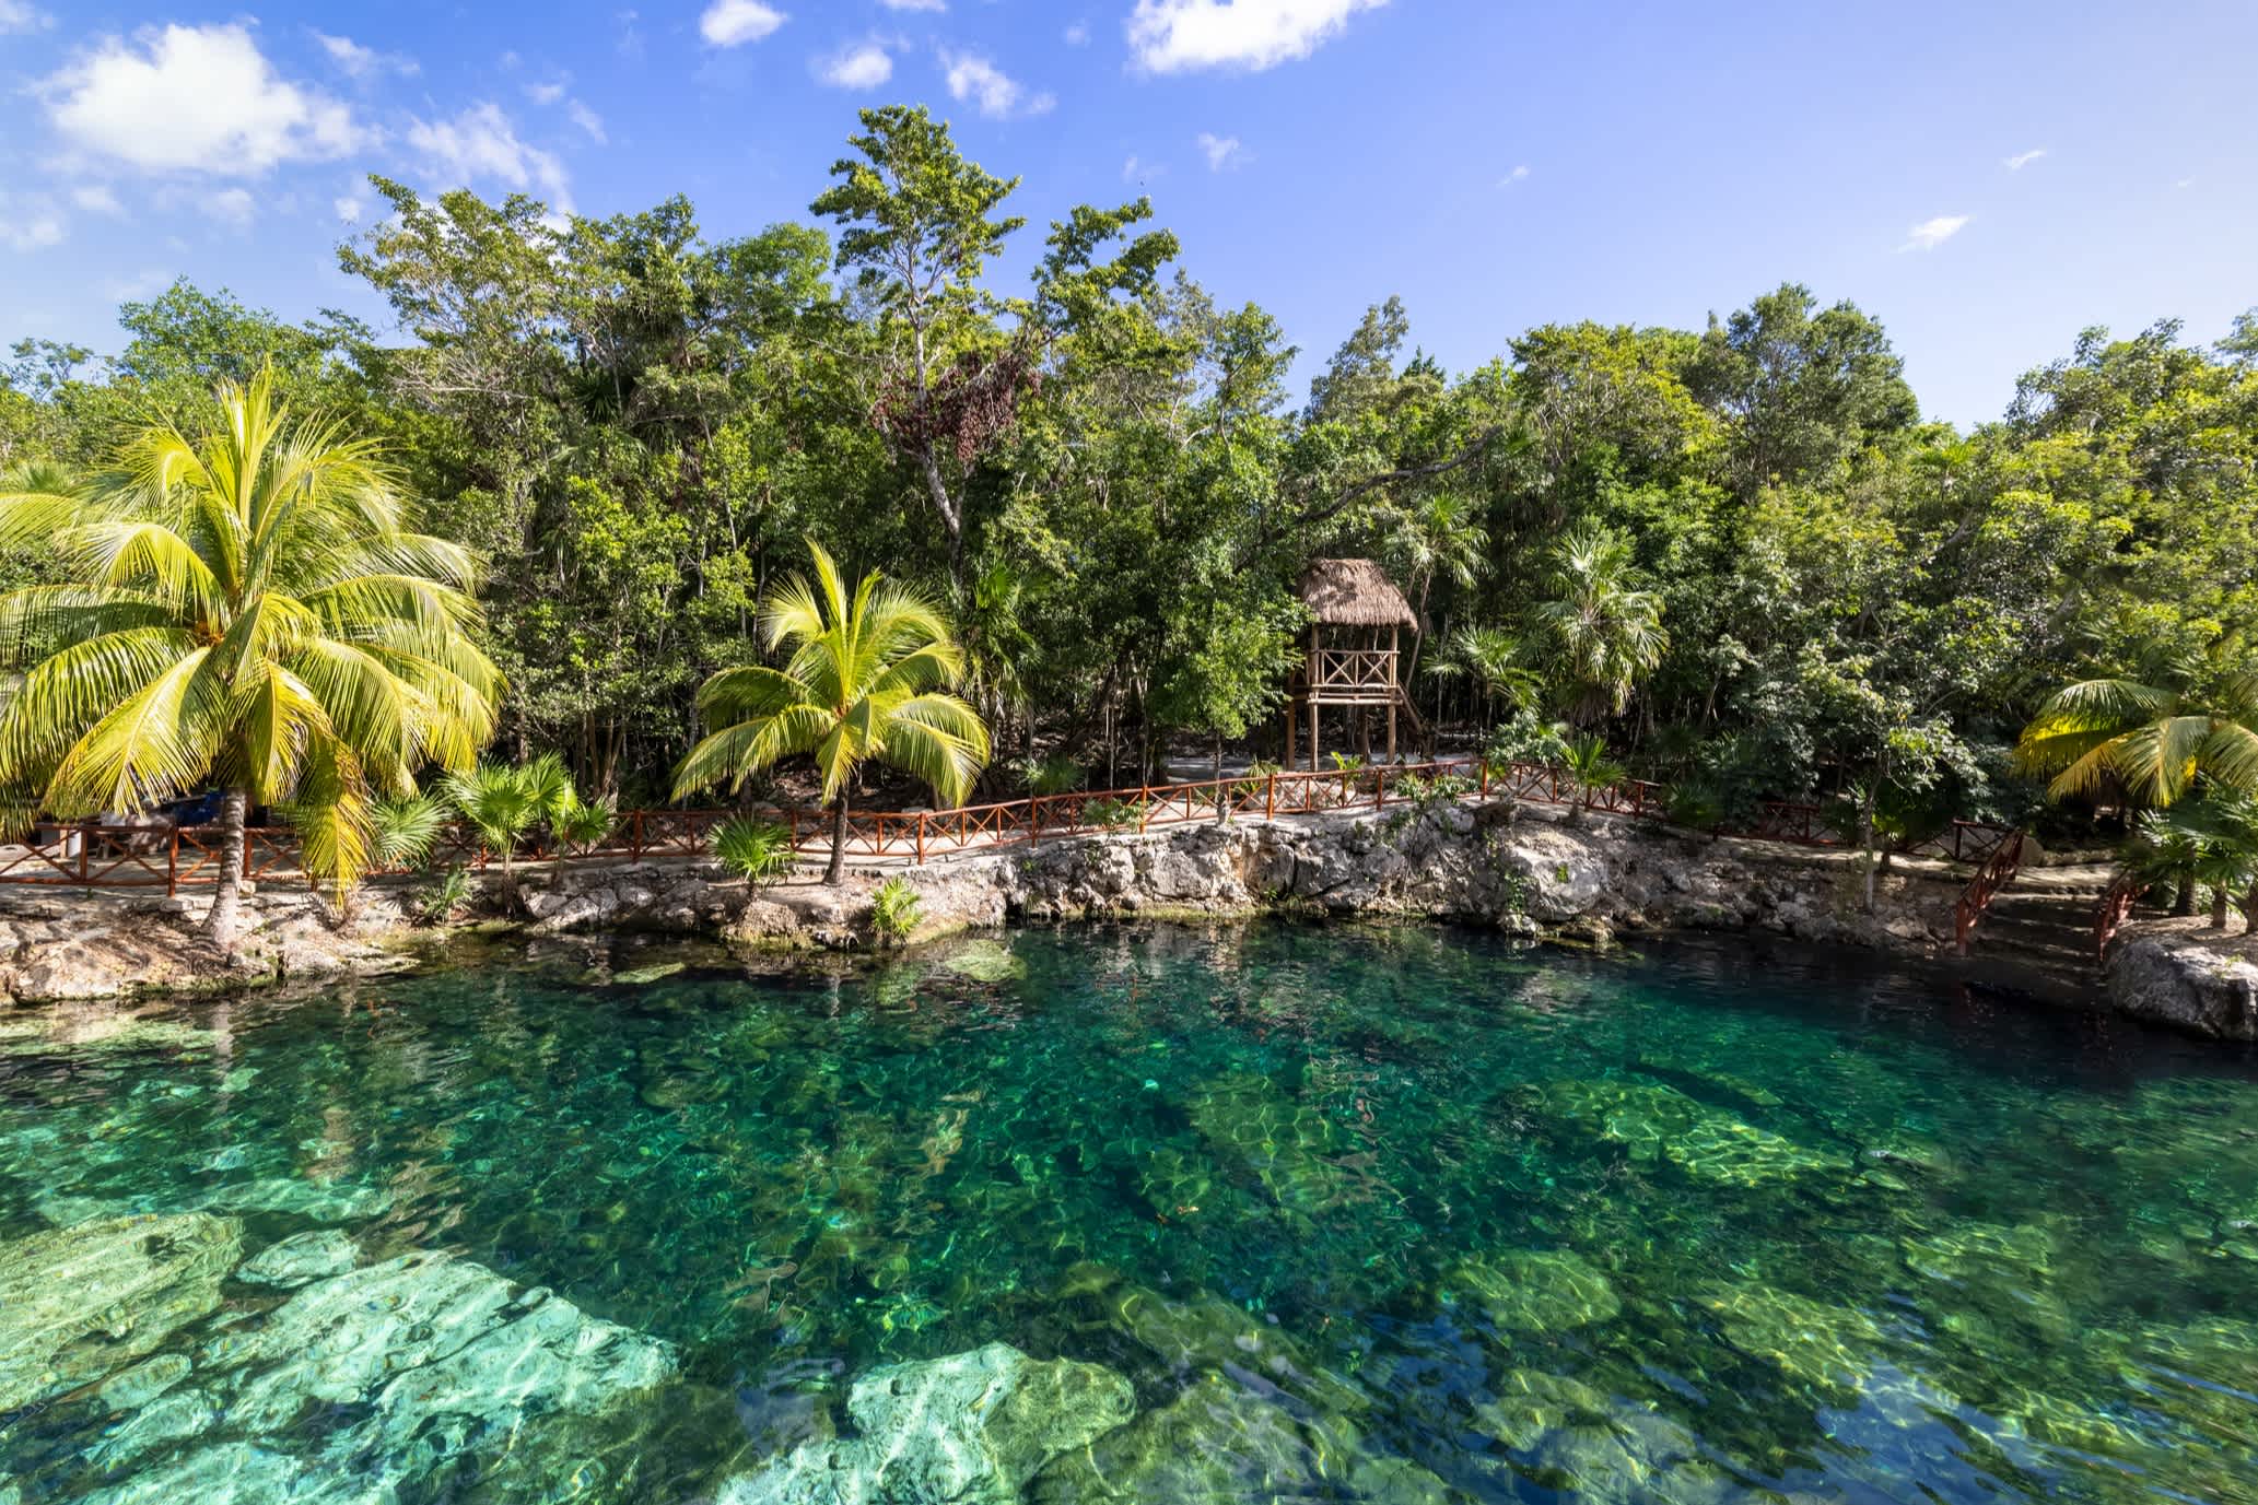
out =
{"type": "MultiPolygon", "coordinates": [[[[1840,853],[1714,839],[1651,824],[1506,803],[1429,803],[1283,821],[1188,824],[854,869],[842,889],[795,880],[747,891],[707,860],[531,866],[513,918],[411,921],[413,884],[370,884],[350,914],[289,882],[248,898],[235,966],[194,932],[201,900],[115,894],[0,896],[0,988],[18,1004],[226,991],[418,966],[463,932],[634,932],[741,950],[867,950],[872,891],[919,894],[912,941],[1075,918],[1246,918],[1274,912],[1452,921],[1529,939],[1608,943],[1655,932],[1757,932],[1942,957],[1962,875],[1903,864],[1865,912],[1840,853]]],[[[2016,977],[2003,977],[2010,986],[2016,977]]],[[[2258,966],[2190,936],[2129,934],[2107,979],[2032,977],[2034,991],[2224,1040],[2258,1038],[2258,966]],[[2095,997],[2100,993],[2100,997],[2095,997]]]]}

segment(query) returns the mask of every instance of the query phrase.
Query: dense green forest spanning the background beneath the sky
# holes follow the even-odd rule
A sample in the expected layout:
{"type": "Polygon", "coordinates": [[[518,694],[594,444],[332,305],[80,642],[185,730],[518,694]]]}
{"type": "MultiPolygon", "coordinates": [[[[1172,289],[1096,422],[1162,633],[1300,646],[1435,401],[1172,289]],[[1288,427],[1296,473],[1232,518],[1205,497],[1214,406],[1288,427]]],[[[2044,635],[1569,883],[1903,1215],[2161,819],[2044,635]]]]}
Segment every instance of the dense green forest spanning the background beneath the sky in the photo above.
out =
{"type": "Polygon", "coordinates": [[[2208,711],[2251,672],[2249,320],[2089,329],[1962,433],[1879,320],[1793,284],[1463,375],[1384,300],[1296,406],[1287,332],[1176,271],[1149,203],[1075,210],[1012,291],[1016,181],[921,111],[867,113],[831,178],[822,223],[720,241],[682,199],[555,219],[379,181],[343,266],[395,334],[183,284],[126,305],[115,359],[20,345],[0,465],[93,465],[271,354],[490,560],[504,754],[621,799],[668,792],[702,684],[777,661],[756,621],[806,537],[939,605],[991,792],[1043,758],[1122,783],[1172,736],[1274,754],[1316,555],[1423,609],[1420,736],[1565,720],[1716,812],[2023,817],[2059,765],[2012,749],[2059,686],[2208,711]]]}

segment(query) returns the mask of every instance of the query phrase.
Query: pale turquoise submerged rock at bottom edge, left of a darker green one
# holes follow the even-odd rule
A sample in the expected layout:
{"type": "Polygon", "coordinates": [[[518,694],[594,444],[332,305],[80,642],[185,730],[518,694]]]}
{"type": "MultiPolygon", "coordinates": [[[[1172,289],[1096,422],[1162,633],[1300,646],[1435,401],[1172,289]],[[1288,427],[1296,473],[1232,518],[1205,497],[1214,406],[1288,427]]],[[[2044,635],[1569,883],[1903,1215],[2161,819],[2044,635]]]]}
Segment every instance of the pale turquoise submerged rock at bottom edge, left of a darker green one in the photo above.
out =
{"type": "Polygon", "coordinates": [[[847,1394],[858,1433],[729,1480],[718,1505],[1016,1505],[1048,1462],[1136,1415],[1129,1381],[991,1343],[872,1370],[847,1394]]]}

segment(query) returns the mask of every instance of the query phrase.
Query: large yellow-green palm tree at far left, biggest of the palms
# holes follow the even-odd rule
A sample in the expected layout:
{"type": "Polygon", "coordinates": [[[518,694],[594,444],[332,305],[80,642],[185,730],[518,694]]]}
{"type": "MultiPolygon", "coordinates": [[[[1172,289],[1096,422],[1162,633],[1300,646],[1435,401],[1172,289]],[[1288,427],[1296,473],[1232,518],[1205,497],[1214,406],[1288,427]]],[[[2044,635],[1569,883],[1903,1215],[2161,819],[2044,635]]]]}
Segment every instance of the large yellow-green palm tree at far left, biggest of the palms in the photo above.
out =
{"type": "Polygon", "coordinates": [[[219,785],[208,934],[235,945],[244,824],[285,806],[343,900],[373,801],[467,767],[501,675],[472,643],[467,551],[413,533],[400,478],[339,424],[291,420],[273,375],[221,386],[224,426],[158,422],[77,490],[0,494],[0,548],[59,582],[0,598],[0,787],[18,824],[142,810],[219,785]]]}

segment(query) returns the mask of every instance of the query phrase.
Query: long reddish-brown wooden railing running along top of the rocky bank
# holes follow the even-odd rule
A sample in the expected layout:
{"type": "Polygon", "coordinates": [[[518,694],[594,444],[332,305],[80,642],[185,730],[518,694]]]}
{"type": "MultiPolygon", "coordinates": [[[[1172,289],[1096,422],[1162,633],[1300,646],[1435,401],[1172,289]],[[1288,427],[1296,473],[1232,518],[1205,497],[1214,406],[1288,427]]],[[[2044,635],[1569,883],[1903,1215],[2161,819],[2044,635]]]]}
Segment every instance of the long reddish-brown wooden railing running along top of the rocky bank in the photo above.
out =
{"type": "MultiPolygon", "coordinates": [[[[1330,810],[1382,810],[1414,794],[1427,794],[1438,778],[1463,781],[1468,799],[1515,799],[1540,806],[1583,806],[1605,815],[1662,819],[1669,790],[1644,778],[1612,785],[1581,785],[1565,769],[1540,763],[1488,763],[1484,758],[1438,758],[1411,765],[1364,765],[1323,772],[1267,772],[1194,783],[1138,785],[1120,790],[1077,790],[1070,794],[1036,794],[989,806],[955,810],[849,810],[844,848],[849,857],[910,857],[928,862],[964,851],[1005,846],[1039,846],[1045,839],[1152,830],[1190,821],[1233,821],[1246,817],[1278,819],[1289,815],[1323,815],[1330,810]]],[[[641,862],[664,855],[700,855],[711,851],[714,833],[734,817],[732,810],[625,810],[612,830],[592,844],[546,851],[528,842],[531,862],[589,862],[628,857],[641,862]]],[[[831,846],[833,815],[824,810],[781,810],[774,817],[790,833],[795,851],[824,853],[831,846]]],[[[183,887],[208,887],[219,878],[221,846],[217,826],[174,826],[169,821],[131,821],[102,826],[79,821],[47,826],[50,835],[14,855],[0,853],[0,887],[52,884],[79,889],[156,889],[178,894],[183,887]]],[[[1824,821],[1824,810],[1811,803],[1766,801],[1743,835],[1802,846],[1840,846],[1824,821]]],[[[1953,860],[1996,855],[2001,842],[2019,833],[1996,826],[1955,821],[1917,851],[1935,851],[1953,860]]],[[[2021,851],[2021,846],[2016,846],[2021,851]]],[[[467,826],[449,826],[431,862],[440,866],[488,866],[495,853],[467,826]]],[[[287,826],[253,826],[244,833],[244,875],[266,878],[303,871],[298,833],[287,826]]]]}

